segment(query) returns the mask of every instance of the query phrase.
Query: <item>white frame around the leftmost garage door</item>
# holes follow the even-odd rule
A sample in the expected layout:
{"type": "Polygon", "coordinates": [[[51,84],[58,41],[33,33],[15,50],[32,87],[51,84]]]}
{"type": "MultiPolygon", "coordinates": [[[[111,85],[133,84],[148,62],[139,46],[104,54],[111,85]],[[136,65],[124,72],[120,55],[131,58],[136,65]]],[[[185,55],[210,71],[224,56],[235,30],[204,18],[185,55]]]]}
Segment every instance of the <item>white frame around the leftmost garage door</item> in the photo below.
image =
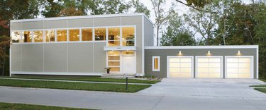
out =
{"type": "Polygon", "coordinates": [[[170,78],[170,73],[169,73],[169,59],[170,58],[190,58],[192,59],[191,63],[191,78],[194,78],[194,56],[167,56],[167,78],[170,78]]]}

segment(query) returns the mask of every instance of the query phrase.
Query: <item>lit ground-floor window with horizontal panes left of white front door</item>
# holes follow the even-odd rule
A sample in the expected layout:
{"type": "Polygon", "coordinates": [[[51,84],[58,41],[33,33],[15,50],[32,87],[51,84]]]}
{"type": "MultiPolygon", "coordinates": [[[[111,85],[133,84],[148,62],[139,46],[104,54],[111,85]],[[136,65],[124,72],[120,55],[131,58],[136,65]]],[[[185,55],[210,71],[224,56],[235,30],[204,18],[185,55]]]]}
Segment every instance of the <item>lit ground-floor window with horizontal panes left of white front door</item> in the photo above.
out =
{"type": "Polygon", "coordinates": [[[111,72],[120,72],[120,51],[108,51],[108,66],[111,72]]]}

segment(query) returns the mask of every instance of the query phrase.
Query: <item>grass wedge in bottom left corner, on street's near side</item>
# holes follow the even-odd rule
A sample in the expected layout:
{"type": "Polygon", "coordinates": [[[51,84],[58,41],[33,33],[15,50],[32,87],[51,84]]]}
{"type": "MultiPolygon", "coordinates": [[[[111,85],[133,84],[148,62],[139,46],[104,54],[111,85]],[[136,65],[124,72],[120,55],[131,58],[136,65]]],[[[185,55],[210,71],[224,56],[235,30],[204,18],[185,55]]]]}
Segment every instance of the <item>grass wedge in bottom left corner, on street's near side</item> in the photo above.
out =
{"type": "Polygon", "coordinates": [[[0,102],[0,109],[9,110],[89,110],[89,109],[77,109],[77,108],[66,108],[58,106],[41,106],[34,104],[14,104],[14,103],[3,103],[0,102]]]}

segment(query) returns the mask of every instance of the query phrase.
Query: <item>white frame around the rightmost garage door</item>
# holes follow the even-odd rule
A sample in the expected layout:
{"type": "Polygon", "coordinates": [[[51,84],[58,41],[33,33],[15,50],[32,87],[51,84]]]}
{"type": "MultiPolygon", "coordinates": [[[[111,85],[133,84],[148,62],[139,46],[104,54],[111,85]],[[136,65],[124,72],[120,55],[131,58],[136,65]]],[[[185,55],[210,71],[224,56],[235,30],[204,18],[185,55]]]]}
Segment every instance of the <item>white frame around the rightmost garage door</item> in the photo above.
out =
{"type": "MultiPolygon", "coordinates": [[[[227,59],[228,58],[250,58],[250,78],[254,78],[254,56],[225,56],[225,78],[227,78],[227,59]]],[[[233,78],[232,78],[233,79],[233,78]]],[[[240,78],[235,78],[240,79],[240,78]]],[[[246,78],[245,78],[246,79],[246,78]]]]}

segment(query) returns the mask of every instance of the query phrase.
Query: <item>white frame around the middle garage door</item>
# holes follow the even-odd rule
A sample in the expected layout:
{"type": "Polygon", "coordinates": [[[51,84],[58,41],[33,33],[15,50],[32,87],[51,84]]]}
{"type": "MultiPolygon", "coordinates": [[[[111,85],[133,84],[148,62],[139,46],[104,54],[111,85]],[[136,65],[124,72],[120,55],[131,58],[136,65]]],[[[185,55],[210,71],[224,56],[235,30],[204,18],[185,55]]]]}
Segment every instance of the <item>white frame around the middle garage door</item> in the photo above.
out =
{"type": "Polygon", "coordinates": [[[198,78],[198,59],[199,58],[219,58],[220,61],[220,78],[223,78],[223,56],[195,56],[195,78],[198,78]]]}

